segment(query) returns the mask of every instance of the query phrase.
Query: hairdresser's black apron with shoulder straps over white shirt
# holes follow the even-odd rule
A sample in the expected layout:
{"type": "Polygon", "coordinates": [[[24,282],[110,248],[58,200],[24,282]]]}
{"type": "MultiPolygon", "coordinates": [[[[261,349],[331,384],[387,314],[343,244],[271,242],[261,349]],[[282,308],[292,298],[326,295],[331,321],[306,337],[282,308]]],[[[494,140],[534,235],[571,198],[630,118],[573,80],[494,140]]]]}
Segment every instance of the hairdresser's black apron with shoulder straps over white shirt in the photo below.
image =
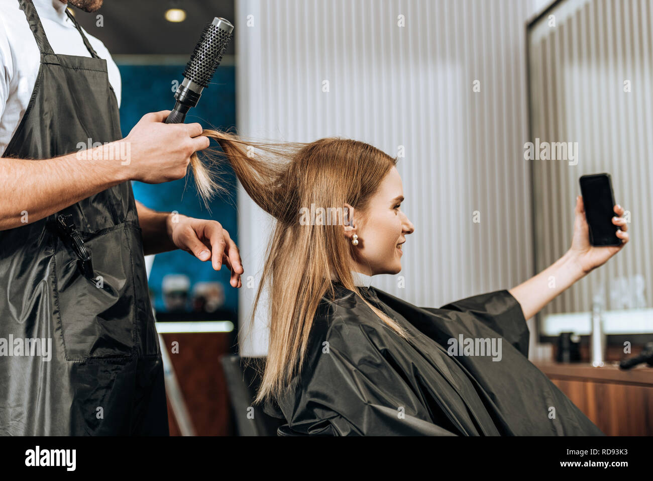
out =
{"type": "MultiPolygon", "coordinates": [[[[38,161],[121,139],[106,60],[70,14],[92,57],[55,54],[31,0],[18,1],[40,69],[3,157],[38,161]]],[[[131,182],[0,231],[0,435],[168,435],[131,182]]]]}

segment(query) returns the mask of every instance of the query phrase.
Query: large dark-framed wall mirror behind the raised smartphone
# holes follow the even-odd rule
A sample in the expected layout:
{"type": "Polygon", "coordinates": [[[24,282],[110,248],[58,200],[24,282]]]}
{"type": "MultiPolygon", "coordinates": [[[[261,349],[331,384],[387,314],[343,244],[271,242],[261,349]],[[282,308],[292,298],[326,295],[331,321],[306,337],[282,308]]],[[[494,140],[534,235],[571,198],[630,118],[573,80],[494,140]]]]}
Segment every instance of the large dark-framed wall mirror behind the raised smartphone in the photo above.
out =
{"type": "Polygon", "coordinates": [[[632,225],[624,252],[540,313],[541,340],[589,334],[593,311],[613,356],[653,340],[652,24],[647,0],[556,1],[528,24],[537,272],[569,248],[584,174],[611,174],[632,225]]]}

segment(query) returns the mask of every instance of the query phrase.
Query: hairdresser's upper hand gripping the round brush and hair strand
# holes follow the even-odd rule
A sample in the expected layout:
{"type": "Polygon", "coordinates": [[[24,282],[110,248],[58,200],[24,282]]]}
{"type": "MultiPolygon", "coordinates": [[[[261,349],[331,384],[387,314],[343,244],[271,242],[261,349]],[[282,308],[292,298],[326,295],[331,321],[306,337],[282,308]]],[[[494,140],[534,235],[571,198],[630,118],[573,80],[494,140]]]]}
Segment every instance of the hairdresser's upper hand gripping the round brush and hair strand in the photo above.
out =
{"type": "Polygon", "coordinates": [[[125,139],[125,180],[159,184],[185,176],[191,155],[209,146],[200,124],[163,124],[170,110],[145,114],[125,139]]]}

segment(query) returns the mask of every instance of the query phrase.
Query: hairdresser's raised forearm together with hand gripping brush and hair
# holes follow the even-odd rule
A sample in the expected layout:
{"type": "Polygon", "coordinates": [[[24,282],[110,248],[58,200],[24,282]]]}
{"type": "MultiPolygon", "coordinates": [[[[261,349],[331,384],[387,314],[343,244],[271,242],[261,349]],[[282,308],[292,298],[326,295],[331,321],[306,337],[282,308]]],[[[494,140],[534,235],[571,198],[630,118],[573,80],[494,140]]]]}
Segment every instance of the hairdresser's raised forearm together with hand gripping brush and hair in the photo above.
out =
{"type": "MultiPolygon", "coordinates": [[[[209,140],[201,135],[200,124],[163,124],[169,113],[146,114],[125,139],[90,150],[38,162],[3,159],[0,231],[36,222],[127,180],[157,184],[185,176],[191,155],[207,148],[209,140]]],[[[160,235],[165,220],[153,218],[153,222],[145,229],[151,227],[153,235],[144,232],[146,254],[148,250],[163,252],[157,244],[165,245],[160,235]]]]}

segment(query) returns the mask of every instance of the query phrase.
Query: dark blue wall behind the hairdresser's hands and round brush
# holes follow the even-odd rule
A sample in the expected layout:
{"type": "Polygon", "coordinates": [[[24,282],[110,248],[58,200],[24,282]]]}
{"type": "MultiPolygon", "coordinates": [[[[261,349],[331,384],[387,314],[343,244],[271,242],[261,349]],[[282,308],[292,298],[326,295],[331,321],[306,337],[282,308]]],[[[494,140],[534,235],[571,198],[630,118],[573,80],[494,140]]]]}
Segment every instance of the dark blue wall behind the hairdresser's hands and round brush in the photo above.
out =
{"type": "MultiPolygon", "coordinates": [[[[185,65],[118,65],[122,77],[120,126],[123,137],[148,112],[170,110],[174,107],[172,80],[181,82],[185,65]]],[[[187,123],[199,122],[203,127],[227,129],[236,125],[235,67],[220,66],[211,85],[204,89],[196,108],[186,117],[187,123]]],[[[212,142],[213,143],[213,142],[212,142]]],[[[217,145],[212,147],[219,148],[217,145]]],[[[155,210],[177,210],[197,218],[210,218],[223,225],[238,244],[236,231],[236,177],[229,165],[222,167],[223,185],[229,190],[228,198],[215,198],[210,212],[197,195],[192,176],[165,184],[133,182],[138,201],[155,210]]],[[[229,284],[229,269],[223,266],[214,271],[210,261],[202,262],[187,252],[176,250],[157,254],[150,273],[150,290],[156,310],[164,311],[161,281],[166,274],[185,274],[191,278],[191,291],[195,282],[219,281],[225,290],[224,309],[234,314],[238,309],[238,291],[229,284]]]]}

